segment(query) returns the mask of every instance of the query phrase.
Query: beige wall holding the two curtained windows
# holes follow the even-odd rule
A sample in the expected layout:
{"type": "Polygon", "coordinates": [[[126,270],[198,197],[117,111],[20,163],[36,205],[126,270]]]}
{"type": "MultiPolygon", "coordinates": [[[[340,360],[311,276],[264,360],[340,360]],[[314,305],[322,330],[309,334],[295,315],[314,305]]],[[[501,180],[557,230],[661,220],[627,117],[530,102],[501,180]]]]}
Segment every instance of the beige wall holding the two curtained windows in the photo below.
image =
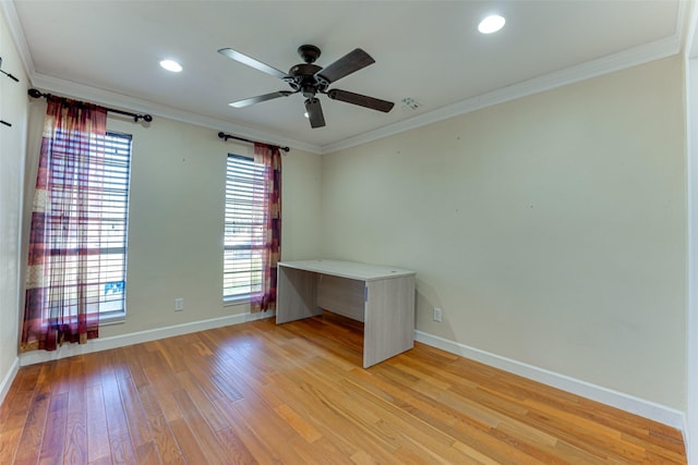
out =
{"type": "MultiPolygon", "coordinates": [[[[29,140],[40,136],[45,111],[44,100],[31,103],[29,140]]],[[[251,155],[252,147],[157,115],[147,125],[110,117],[108,129],[133,135],[128,315],[122,323],[104,326],[100,336],[249,311],[246,304],[222,304],[222,231],[227,154],[251,155]],[[184,310],[176,313],[178,297],[184,298],[184,310]]],[[[31,144],[27,179],[36,175],[37,155],[38,146],[31,144]]],[[[317,254],[320,163],[318,155],[301,150],[284,156],[284,259],[317,254]]]]}

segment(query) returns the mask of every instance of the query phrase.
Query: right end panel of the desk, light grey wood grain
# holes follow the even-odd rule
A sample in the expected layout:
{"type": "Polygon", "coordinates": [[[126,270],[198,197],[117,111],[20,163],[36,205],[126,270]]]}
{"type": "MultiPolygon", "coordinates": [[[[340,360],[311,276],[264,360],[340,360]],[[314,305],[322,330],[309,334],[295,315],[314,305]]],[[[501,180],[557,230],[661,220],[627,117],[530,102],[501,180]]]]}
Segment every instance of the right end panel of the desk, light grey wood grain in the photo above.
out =
{"type": "Polygon", "coordinates": [[[414,346],[414,277],[366,283],[363,367],[414,346]]]}

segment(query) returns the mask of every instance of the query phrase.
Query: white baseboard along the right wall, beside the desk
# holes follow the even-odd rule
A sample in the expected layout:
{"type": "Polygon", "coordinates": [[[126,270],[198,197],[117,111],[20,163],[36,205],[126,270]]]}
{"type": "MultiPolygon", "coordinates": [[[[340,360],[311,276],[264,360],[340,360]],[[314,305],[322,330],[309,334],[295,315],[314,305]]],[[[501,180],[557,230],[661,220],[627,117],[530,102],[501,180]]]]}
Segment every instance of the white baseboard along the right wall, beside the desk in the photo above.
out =
{"type": "Polygon", "coordinates": [[[567,391],[573,394],[580,395],[592,401],[601,402],[602,404],[621,408],[625,412],[629,412],[631,414],[639,415],[654,421],[659,421],[661,424],[671,426],[672,428],[676,428],[682,432],[685,431],[685,414],[681,411],[676,411],[665,405],[660,405],[651,401],[625,394],[623,392],[591,384],[589,382],[581,381],[565,375],[559,375],[554,371],[524,364],[521,362],[513,360],[510,358],[502,357],[489,352],[480,351],[478,348],[470,347],[468,345],[455,341],[449,341],[436,335],[428,334],[422,331],[414,331],[414,340],[426,345],[441,348],[442,351],[446,351],[455,355],[460,355],[462,357],[483,363],[491,367],[522,376],[533,381],[542,382],[543,384],[552,386],[553,388],[562,389],[563,391],[567,391]]]}

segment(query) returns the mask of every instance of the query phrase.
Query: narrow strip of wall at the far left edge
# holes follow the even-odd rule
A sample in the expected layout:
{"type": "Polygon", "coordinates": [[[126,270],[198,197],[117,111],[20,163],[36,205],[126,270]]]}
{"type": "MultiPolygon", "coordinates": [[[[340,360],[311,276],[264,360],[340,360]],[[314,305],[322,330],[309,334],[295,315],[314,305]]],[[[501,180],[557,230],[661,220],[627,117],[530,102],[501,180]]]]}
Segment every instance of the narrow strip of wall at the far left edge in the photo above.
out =
{"type": "Polygon", "coordinates": [[[2,71],[20,79],[0,75],[0,401],[5,379],[16,366],[19,330],[19,259],[22,211],[22,171],[26,140],[27,78],[0,9],[0,57],[2,71]]]}

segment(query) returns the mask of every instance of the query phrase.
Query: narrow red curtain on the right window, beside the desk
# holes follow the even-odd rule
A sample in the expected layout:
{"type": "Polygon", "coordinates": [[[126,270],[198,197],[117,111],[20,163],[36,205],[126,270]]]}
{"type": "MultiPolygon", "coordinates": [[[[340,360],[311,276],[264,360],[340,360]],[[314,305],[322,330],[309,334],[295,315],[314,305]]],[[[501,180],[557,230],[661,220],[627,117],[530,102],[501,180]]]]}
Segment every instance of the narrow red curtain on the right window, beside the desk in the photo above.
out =
{"type": "Polygon", "coordinates": [[[253,240],[253,249],[262,260],[262,286],[252,295],[252,313],[276,309],[276,268],[281,254],[281,154],[278,147],[255,144],[254,161],[265,167],[264,183],[255,188],[254,195],[266,208],[264,227],[253,240]]]}

